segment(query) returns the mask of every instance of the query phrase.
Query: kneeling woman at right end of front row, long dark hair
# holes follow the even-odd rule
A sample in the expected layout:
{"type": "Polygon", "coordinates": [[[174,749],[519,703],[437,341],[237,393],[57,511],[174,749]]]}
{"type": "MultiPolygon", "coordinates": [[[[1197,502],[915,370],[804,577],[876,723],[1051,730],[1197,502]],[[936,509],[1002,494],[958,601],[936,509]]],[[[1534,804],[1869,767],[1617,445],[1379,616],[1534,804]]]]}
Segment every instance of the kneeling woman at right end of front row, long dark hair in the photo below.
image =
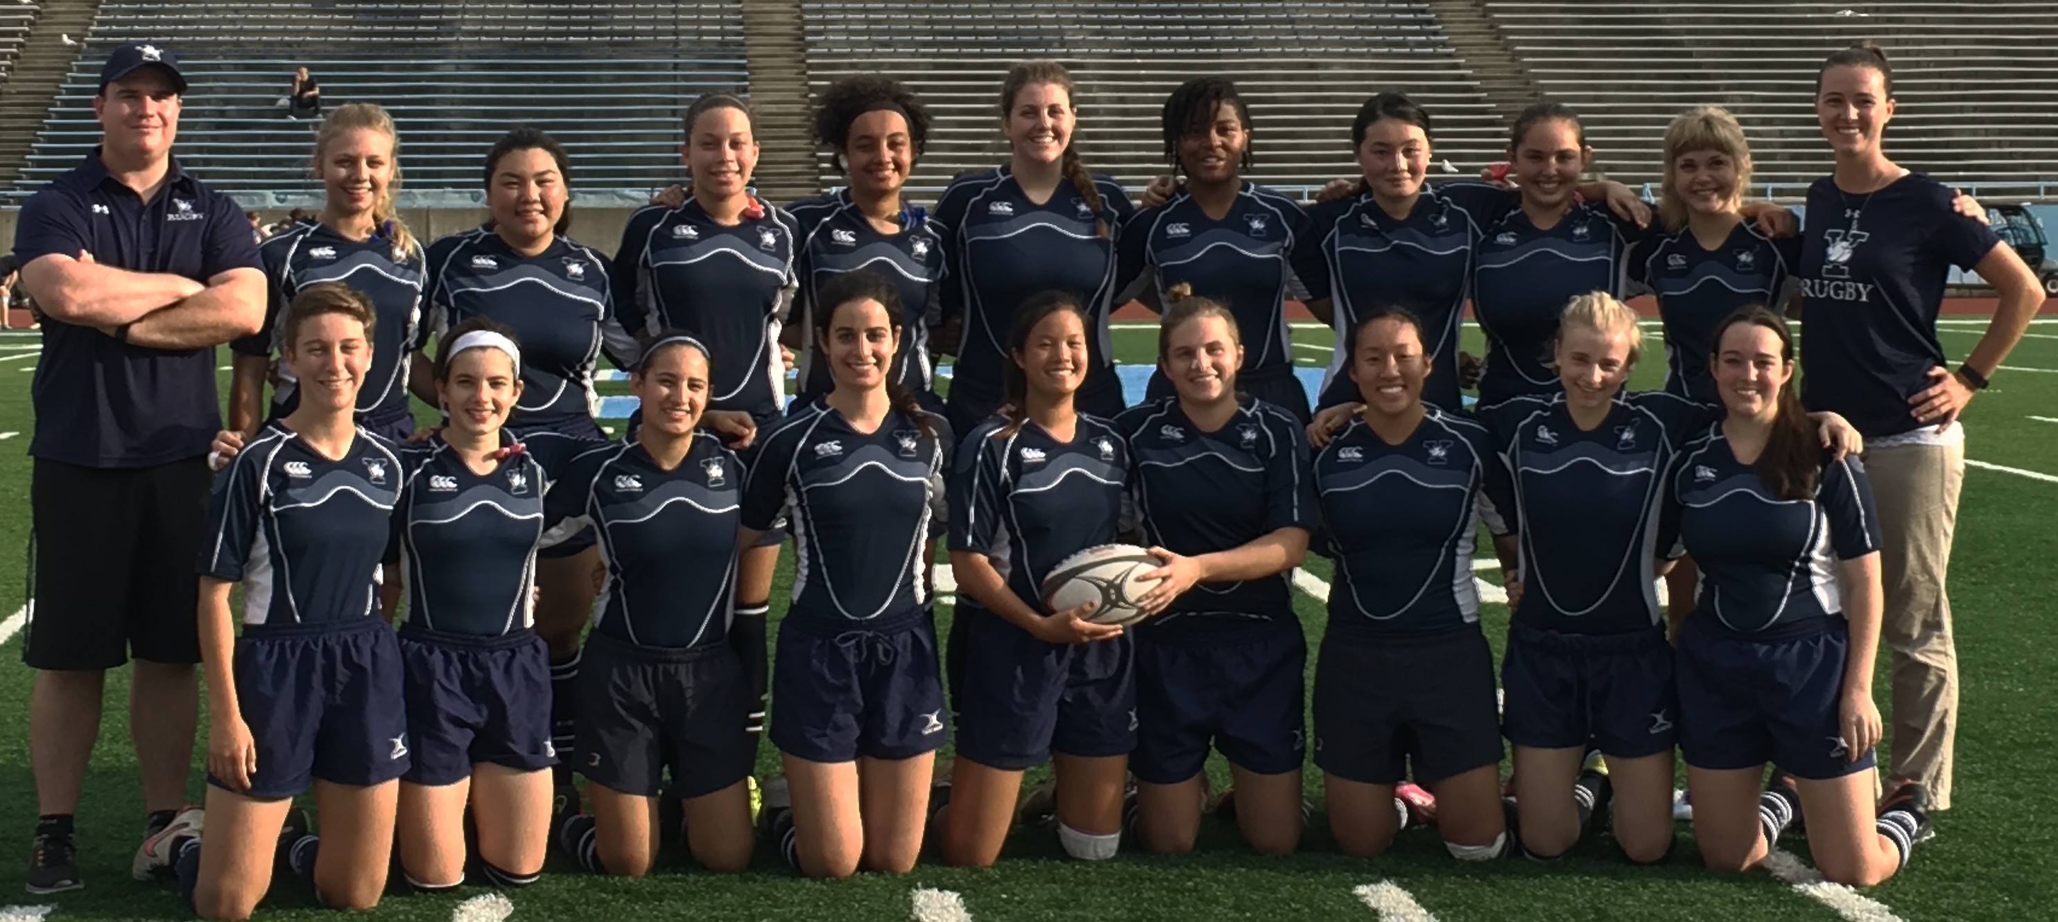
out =
{"type": "Polygon", "coordinates": [[[1823,877],[1869,887],[1928,834],[1920,788],[1873,809],[1873,490],[1865,465],[1830,457],[1801,414],[1778,315],[1731,315],[1710,358],[1729,414],[1688,445],[1667,492],[1702,578],[1679,628],[1694,838],[1708,866],[1745,871],[1801,813],[1823,877]],[[1795,780],[1760,792],[1766,761],[1795,780]]]}

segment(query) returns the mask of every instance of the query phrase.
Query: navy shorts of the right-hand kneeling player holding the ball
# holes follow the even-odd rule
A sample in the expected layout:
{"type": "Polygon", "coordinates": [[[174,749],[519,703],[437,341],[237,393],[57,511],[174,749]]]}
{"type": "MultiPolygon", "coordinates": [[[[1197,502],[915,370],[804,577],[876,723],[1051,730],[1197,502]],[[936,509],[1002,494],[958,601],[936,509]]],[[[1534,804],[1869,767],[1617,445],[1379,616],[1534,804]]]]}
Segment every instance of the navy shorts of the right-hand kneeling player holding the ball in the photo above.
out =
{"type": "Polygon", "coordinates": [[[1130,772],[1144,784],[1179,784],[1200,774],[1210,745],[1247,772],[1299,770],[1307,755],[1305,673],[1307,638],[1294,619],[1177,636],[1140,628],[1130,772]]]}

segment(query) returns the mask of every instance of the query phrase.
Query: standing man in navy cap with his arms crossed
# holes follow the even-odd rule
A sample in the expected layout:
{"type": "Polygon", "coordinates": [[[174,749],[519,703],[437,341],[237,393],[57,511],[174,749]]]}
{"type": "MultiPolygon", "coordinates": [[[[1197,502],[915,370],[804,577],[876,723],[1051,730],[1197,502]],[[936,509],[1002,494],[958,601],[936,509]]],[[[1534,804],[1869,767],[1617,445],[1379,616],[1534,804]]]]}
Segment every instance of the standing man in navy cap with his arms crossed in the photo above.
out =
{"type": "Polygon", "coordinates": [[[181,813],[200,661],[193,560],[220,428],[214,346],[257,333],[265,280],[228,196],[171,158],[185,78],[171,49],[121,45],[101,68],[101,146],[35,193],[14,233],[43,311],[29,488],[35,607],[23,661],[41,819],[29,891],[82,885],[72,811],[107,669],[130,657],[130,733],[150,811],[132,868],[198,823],[181,813]]]}

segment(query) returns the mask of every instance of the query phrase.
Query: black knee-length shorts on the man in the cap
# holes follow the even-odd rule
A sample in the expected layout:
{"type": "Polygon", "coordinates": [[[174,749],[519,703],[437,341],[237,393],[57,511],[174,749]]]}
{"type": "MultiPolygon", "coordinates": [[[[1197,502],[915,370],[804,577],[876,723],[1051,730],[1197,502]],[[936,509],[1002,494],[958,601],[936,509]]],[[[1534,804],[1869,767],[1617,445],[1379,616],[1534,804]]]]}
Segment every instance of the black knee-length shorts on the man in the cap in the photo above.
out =
{"type": "Polygon", "coordinates": [[[130,657],[200,663],[193,560],[214,475],[202,457],[156,467],[35,459],[31,597],[21,659],[113,669],[130,657]]]}

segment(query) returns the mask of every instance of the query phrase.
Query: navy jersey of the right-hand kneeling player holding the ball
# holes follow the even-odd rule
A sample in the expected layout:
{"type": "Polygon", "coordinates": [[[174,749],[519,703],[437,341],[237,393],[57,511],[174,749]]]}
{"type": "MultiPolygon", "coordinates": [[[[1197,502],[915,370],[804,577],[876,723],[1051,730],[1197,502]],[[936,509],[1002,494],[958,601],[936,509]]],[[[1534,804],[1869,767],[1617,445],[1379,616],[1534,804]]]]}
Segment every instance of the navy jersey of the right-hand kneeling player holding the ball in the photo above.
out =
{"type": "MultiPolygon", "coordinates": [[[[1163,397],[1115,416],[1115,430],[1130,447],[1136,519],[1157,547],[1214,554],[1319,523],[1307,438],[1276,405],[1245,397],[1227,426],[1204,432],[1179,397],[1163,397]]],[[[1294,619],[1288,574],[1196,584],[1144,630],[1163,636],[1251,619],[1294,619]]]]}

